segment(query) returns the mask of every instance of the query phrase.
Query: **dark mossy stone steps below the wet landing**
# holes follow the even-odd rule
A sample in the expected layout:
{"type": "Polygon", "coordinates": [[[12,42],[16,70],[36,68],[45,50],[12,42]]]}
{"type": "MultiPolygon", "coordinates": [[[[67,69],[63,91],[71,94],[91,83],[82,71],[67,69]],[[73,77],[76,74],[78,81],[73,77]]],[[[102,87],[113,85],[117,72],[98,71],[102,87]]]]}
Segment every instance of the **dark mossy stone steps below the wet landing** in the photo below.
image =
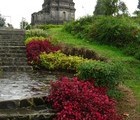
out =
{"type": "Polygon", "coordinates": [[[53,115],[43,97],[0,102],[0,120],[51,120],[53,115]]]}

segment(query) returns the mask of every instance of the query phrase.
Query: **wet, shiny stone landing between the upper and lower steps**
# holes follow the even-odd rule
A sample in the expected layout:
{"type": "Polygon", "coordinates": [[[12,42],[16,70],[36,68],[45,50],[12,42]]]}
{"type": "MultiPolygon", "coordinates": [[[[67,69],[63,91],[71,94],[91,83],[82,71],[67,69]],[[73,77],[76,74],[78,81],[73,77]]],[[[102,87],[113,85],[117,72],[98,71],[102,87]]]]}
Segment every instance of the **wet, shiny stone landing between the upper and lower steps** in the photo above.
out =
{"type": "Polygon", "coordinates": [[[7,72],[0,77],[0,101],[46,96],[49,82],[62,73],[7,72]]]}

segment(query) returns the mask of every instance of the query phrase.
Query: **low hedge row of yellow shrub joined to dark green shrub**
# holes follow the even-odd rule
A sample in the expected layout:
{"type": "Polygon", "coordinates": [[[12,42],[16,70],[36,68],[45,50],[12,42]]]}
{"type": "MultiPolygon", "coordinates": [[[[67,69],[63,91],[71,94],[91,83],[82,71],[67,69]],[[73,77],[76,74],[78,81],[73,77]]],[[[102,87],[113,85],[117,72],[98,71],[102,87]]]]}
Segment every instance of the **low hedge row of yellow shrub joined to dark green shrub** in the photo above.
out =
{"type": "Polygon", "coordinates": [[[85,79],[95,79],[95,85],[114,88],[121,82],[122,69],[119,64],[93,61],[78,56],[66,56],[61,52],[42,53],[41,66],[48,70],[75,72],[85,79]]]}

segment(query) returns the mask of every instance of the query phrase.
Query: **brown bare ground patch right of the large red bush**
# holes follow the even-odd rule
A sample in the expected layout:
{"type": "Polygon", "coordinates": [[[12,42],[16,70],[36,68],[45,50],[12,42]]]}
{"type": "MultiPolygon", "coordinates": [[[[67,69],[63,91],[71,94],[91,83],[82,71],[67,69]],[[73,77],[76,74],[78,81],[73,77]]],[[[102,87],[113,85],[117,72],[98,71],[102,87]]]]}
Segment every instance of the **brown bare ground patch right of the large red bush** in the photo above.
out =
{"type": "Polygon", "coordinates": [[[124,120],[140,120],[140,112],[136,110],[140,101],[126,86],[120,85],[119,89],[124,93],[124,98],[118,101],[118,111],[124,116],[124,120]]]}

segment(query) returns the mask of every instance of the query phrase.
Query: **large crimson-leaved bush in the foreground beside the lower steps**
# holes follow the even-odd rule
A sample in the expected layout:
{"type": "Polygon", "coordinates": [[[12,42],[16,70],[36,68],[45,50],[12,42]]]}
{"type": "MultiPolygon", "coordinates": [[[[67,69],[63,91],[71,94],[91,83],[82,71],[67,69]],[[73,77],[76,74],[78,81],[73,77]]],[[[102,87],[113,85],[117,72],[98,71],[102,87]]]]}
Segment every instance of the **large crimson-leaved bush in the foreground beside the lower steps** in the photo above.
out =
{"type": "Polygon", "coordinates": [[[57,111],[54,120],[121,120],[115,101],[109,99],[105,88],[66,77],[52,83],[51,87],[45,100],[57,111]]]}

